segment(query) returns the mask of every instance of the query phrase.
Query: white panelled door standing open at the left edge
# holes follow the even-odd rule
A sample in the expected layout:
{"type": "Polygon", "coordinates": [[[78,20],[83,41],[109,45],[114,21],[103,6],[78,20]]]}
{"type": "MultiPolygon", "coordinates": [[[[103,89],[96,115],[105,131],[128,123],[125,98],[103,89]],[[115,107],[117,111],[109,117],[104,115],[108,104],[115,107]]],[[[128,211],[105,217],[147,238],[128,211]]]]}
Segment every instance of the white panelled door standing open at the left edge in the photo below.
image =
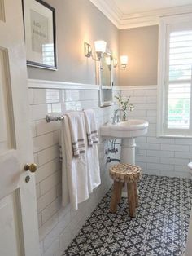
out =
{"type": "Polygon", "coordinates": [[[21,0],[0,0],[0,255],[38,256],[21,0]],[[26,182],[26,176],[29,181],[26,182]]]}

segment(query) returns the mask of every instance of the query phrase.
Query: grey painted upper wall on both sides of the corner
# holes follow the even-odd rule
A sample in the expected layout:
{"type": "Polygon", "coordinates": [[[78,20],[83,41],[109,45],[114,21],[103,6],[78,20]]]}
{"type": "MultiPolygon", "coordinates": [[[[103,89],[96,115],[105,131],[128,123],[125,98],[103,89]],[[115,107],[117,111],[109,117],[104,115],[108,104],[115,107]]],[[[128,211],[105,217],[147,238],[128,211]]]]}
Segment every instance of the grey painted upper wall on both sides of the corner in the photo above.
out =
{"type": "Polygon", "coordinates": [[[84,42],[103,39],[113,55],[129,55],[126,70],[115,70],[115,85],[157,84],[158,26],[118,30],[89,0],[46,0],[56,9],[58,70],[28,67],[28,78],[96,83],[95,62],[84,42]],[[119,81],[118,81],[119,78],[119,81]]]}

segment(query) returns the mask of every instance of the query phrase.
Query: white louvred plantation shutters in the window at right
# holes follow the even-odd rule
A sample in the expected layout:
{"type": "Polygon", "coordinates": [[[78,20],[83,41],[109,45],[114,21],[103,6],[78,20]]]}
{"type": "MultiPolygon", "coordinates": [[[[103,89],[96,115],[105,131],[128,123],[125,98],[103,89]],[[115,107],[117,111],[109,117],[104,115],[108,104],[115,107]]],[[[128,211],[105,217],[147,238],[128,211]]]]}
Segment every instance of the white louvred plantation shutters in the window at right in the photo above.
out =
{"type": "Polygon", "coordinates": [[[191,129],[192,26],[169,25],[165,72],[164,128],[174,134],[191,129]]]}

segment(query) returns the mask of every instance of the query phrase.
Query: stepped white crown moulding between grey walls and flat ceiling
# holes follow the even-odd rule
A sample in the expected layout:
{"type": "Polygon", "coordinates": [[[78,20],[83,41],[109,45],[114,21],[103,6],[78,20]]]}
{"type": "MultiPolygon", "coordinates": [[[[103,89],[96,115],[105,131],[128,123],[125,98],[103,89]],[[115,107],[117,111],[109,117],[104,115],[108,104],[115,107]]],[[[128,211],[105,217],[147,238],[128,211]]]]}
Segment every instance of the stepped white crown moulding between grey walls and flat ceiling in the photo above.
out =
{"type": "Polygon", "coordinates": [[[111,0],[110,5],[103,0],[89,0],[104,15],[107,16],[118,29],[131,29],[159,24],[159,18],[166,15],[186,14],[192,12],[192,4],[180,7],[171,7],[159,10],[145,11],[134,14],[123,14],[111,0]]]}

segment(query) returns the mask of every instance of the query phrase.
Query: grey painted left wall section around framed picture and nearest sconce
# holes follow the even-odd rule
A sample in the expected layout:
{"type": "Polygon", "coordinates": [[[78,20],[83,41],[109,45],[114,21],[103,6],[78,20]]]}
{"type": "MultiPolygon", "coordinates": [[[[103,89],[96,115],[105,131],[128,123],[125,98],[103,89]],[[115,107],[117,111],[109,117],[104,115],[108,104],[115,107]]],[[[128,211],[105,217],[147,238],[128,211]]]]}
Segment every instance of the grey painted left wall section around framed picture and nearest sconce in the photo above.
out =
{"type": "Polygon", "coordinates": [[[118,56],[118,29],[89,0],[46,2],[56,9],[58,70],[28,67],[28,78],[95,84],[95,62],[85,58],[84,42],[103,39],[118,56]]]}

